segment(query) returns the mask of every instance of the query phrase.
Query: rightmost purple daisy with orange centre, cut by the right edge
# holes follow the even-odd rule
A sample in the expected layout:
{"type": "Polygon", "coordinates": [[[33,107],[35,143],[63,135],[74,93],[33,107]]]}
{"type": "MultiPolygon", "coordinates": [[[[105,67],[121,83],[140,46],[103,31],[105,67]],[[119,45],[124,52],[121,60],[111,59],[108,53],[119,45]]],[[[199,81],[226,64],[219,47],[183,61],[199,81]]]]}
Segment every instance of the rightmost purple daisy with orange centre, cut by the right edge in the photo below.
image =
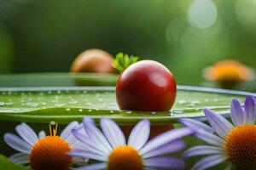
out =
{"type": "Polygon", "coordinates": [[[226,169],[255,169],[256,165],[256,106],[253,97],[247,96],[242,107],[233,99],[230,116],[233,123],[208,109],[205,115],[211,127],[202,122],[183,118],[184,126],[196,129],[195,136],[209,145],[199,145],[186,150],[184,157],[205,156],[192,170],[207,169],[223,161],[230,161],[226,169]]]}

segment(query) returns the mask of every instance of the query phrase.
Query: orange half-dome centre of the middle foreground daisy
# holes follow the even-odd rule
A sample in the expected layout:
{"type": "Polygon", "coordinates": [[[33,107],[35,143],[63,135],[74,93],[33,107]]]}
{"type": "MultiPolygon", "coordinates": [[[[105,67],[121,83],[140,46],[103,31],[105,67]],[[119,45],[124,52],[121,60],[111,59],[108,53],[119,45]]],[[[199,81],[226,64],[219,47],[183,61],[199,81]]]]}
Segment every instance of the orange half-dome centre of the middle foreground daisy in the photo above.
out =
{"type": "Polygon", "coordinates": [[[108,156],[108,170],[143,170],[143,160],[129,145],[118,146],[108,156]]]}

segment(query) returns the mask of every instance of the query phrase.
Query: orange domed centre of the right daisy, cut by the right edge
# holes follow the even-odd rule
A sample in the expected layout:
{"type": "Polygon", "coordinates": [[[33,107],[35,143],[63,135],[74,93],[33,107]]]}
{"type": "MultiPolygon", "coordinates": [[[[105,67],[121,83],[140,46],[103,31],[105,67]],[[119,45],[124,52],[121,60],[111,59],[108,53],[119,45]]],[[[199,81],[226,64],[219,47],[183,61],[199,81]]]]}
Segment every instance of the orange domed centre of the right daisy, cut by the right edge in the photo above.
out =
{"type": "Polygon", "coordinates": [[[252,169],[256,165],[256,126],[234,128],[226,138],[225,147],[237,168],[252,169]]]}

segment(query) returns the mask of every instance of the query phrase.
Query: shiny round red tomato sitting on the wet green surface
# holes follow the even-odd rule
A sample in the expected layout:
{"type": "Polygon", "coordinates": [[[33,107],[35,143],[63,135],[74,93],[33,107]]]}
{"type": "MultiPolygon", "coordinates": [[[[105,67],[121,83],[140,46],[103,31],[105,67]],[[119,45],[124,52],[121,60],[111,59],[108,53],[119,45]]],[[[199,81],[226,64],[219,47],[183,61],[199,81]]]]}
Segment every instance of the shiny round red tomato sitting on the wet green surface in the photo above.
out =
{"type": "Polygon", "coordinates": [[[119,76],[116,99],[121,110],[170,111],[176,91],[175,79],[166,66],[142,60],[119,76]]]}

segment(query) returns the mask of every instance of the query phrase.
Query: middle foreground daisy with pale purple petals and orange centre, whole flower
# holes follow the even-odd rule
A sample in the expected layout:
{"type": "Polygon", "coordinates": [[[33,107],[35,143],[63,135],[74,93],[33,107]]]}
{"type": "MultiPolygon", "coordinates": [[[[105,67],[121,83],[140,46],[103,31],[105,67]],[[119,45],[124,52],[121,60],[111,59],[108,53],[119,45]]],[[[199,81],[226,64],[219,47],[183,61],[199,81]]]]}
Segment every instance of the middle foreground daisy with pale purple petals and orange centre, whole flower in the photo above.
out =
{"type": "Polygon", "coordinates": [[[102,131],[90,117],[84,117],[83,123],[83,127],[73,129],[73,134],[84,144],[84,148],[73,150],[69,155],[100,162],[79,167],[79,170],[183,169],[183,159],[166,155],[182,150],[185,145],[182,138],[194,132],[183,127],[162,133],[148,141],[150,122],[144,119],[132,129],[126,143],[124,133],[110,119],[101,119],[102,131]]]}

